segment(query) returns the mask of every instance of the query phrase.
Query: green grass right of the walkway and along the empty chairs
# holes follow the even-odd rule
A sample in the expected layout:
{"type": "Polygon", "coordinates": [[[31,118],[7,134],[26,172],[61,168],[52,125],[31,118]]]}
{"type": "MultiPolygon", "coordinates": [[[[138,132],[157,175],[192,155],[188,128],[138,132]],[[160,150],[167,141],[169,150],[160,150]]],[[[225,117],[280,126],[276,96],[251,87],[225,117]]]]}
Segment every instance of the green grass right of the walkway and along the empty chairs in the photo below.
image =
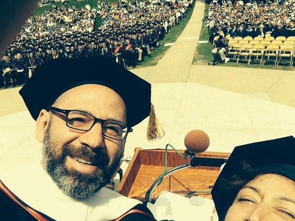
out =
{"type": "MultiPolygon", "coordinates": [[[[208,15],[208,4],[205,4],[204,16],[208,15]]],[[[202,27],[199,35],[200,40],[209,40],[209,33],[207,27],[202,27]]],[[[211,55],[212,44],[208,43],[198,43],[196,47],[196,51],[192,60],[192,64],[200,64],[200,65],[208,65],[208,62],[212,60],[211,55]]],[[[275,69],[275,70],[295,70],[294,67],[288,67],[285,63],[280,66],[274,66],[273,64],[265,64],[264,66],[254,63],[247,65],[247,62],[239,62],[235,63],[235,60],[229,61],[226,64],[222,64],[222,66],[228,67],[250,67],[250,68],[262,68],[262,69],[275,69]]]]}

